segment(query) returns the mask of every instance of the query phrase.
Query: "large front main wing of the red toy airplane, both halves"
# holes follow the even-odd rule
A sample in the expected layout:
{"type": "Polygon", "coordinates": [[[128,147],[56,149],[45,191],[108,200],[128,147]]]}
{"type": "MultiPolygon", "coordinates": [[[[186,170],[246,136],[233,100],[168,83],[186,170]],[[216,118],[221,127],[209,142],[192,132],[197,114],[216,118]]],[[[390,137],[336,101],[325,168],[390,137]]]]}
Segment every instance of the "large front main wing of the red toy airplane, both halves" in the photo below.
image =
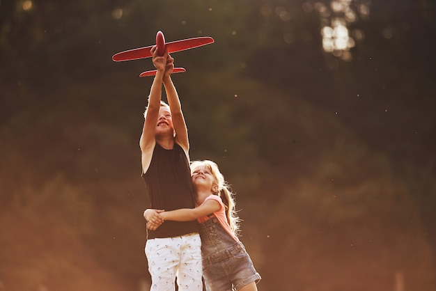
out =
{"type": "MultiPolygon", "coordinates": [[[[193,49],[194,47],[201,47],[203,45],[208,45],[214,42],[213,38],[208,36],[200,38],[187,38],[185,40],[176,40],[173,42],[166,42],[165,46],[168,48],[168,52],[171,54],[173,52],[185,51],[186,49],[193,49]]],[[[137,49],[129,49],[124,52],[119,52],[112,56],[112,60],[116,62],[120,61],[130,61],[137,60],[139,58],[150,58],[150,49],[153,45],[148,47],[139,47],[137,49]]]]}

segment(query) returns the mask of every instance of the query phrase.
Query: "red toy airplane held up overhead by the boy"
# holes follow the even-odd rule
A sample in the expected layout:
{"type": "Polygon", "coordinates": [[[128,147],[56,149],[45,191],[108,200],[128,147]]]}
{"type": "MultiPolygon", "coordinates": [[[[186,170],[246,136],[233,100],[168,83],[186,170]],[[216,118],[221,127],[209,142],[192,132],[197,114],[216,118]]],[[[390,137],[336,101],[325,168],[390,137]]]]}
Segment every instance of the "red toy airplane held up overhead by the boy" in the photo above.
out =
{"type": "MultiPolygon", "coordinates": [[[[213,38],[201,37],[187,38],[185,40],[176,40],[165,43],[164,33],[162,33],[162,31],[157,31],[156,33],[157,54],[159,54],[159,56],[164,54],[165,48],[168,49],[168,53],[180,52],[185,51],[186,49],[193,49],[194,47],[208,45],[212,42],[214,42],[213,38]]],[[[112,60],[120,62],[137,60],[139,58],[150,58],[150,56],[152,56],[150,53],[150,49],[152,47],[153,45],[150,45],[148,47],[139,47],[137,49],[129,49],[128,51],[119,52],[118,54],[114,54],[114,56],[112,56],[112,60]]],[[[174,68],[173,73],[185,71],[186,70],[184,68],[174,68]]],[[[156,70],[146,71],[142,72],[139,77],[154,76],[155,74],[156,70]]]]}

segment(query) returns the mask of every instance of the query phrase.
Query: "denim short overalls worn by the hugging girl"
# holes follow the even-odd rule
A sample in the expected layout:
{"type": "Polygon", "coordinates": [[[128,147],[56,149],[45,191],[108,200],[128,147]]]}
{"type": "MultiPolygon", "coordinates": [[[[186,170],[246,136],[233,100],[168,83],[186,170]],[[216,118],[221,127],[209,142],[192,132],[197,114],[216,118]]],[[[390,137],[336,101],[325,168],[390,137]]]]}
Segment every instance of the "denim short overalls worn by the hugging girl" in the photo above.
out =
{"type": "Polygon", "coordinates": [[[215,215],[199,224],[206,290],[239,290],[260,280],[242,242],[231,237],[215,215]]]}

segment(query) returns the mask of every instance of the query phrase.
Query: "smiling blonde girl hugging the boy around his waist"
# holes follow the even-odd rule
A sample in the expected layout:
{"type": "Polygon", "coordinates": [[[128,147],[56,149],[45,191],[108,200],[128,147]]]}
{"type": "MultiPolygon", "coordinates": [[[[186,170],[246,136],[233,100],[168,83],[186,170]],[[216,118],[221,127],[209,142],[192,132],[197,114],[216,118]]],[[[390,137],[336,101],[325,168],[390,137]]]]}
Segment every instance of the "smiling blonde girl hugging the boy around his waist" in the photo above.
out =
{"type": "Polygon", "coordinates": [[[147,228],[155,230],[165,220],[197,219],[206,290],[256,291],[260,275],[237,237],[239,218],[224,176],[215,162],[205,160],[191,163],[191,179],[196,208],[168,212],[148,209],[144,212],[147,228]]]}

